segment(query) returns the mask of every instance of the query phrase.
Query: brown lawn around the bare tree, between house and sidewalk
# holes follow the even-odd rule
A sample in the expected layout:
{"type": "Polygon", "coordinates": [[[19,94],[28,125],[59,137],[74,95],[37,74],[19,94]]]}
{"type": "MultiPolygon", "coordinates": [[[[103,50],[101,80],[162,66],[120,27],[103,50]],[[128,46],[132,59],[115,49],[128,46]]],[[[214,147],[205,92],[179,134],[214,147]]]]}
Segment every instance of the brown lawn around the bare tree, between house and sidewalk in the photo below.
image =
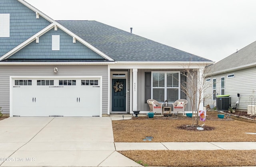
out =
{"type": "MultiPolygon", "coordinates": [[[[216,117],[217,113],[218,112],[215,114],[216,117]]],[[[114,141],[143,142],[142,139],[145,139],[146,136],[152,136],[154,138],[153,142],[256,141],[255,135],[245,134],[245,132],[256,132],[255,123],[232,119],[210,118],[211,114],[212,113],[208,114],[208,120],[200,123],[214,127],[215,130],[211,131],[188,131],[178,129],[178,126],[192,124],[192,118],[182,119],[182,116],[178,119],[168,120],[139,117],[131,120],[112,121],[114,141]]]]}

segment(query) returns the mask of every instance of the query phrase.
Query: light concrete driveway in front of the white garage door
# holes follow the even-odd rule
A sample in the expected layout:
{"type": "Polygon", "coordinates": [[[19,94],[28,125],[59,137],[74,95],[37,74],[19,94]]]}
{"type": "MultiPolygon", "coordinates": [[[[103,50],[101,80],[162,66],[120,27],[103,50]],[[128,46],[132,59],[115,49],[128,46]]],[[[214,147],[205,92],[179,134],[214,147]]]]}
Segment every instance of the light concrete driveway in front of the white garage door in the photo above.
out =
{"type": "Polygon", "coordinates": [[[0,167],[140,166],[116,152],[107,117],[11,117],[0,142],[0,167]]]}

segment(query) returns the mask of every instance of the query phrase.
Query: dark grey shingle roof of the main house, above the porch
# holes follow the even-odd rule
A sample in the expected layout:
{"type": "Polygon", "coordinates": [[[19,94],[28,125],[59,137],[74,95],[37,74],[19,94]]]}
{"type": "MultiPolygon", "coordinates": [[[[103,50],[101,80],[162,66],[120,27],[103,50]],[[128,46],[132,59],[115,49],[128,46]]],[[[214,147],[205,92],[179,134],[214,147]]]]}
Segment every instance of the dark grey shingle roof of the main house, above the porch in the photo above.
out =
{"type": "Polygon", "coordinates": [[[115,61],[211,61],[97,21],[57,21],[115,61]]]}

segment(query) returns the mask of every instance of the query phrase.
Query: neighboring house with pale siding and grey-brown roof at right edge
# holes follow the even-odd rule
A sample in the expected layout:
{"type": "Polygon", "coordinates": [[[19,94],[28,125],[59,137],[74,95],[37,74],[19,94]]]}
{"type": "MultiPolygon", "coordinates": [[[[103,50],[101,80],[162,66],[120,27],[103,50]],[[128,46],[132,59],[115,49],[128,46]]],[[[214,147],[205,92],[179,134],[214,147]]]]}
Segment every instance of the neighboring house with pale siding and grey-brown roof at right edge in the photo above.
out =
{"type": "Polygon", "coordinates": [[[237,109],[247,110],[256,90],[256,41],[207,68],[212,76],[206,77],[206,84],[211,86],[204,92],[204,105],[216,106],[217,94],[229,94],[232,107],[239,101],[237,109]]]}

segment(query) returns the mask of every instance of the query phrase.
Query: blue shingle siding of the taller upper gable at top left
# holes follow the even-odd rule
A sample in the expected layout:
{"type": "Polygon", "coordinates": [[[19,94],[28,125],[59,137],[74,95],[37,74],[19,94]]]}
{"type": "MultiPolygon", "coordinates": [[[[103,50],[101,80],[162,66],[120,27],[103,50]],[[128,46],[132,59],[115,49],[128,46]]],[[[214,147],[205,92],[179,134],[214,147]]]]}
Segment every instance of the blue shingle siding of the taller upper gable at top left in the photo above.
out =
{"type": "Polygon", "coordinates": [[[10,14],[10,37],[0,37],[0,57],[51,24],[17,0],[0,0],[0,13],[10,14]]]}

